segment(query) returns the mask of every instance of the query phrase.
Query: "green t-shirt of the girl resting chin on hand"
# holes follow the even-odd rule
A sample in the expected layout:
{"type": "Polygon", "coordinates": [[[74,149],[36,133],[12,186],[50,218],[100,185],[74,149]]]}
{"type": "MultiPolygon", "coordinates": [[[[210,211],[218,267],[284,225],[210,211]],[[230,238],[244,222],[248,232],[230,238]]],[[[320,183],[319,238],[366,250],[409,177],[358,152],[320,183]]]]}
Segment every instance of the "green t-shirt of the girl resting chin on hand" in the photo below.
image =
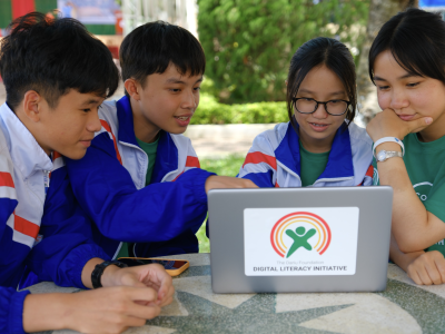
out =
{"type": "MultiPolygon", "coordinates": [[[[445,136],[422,143],[416,134],[409,134],[403,143],[406,170],[418,198],[428,212],[445,224],[445,136]]],[[[376,167],[375,159],[373,165],[376,167]]],[[[378,173],[374,174],[374,184],[378,185],[378,173]]],[[[445,240],[425,250],[439,250],[445,256],[445,240]]]]}

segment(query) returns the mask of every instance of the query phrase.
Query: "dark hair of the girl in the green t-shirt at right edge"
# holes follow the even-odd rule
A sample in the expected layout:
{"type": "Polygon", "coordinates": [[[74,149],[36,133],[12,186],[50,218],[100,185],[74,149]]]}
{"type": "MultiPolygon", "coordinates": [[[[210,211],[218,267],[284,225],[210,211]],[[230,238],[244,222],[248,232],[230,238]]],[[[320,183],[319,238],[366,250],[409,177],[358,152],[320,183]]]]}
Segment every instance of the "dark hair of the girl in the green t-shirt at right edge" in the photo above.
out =
{"type": "Polygon", "coordinates": [[[439,14],[412,8],[383,24],[369,50],[373,82],[375,60],[386,50],[408,73],[445,84],[445,22],[439,14]]]}

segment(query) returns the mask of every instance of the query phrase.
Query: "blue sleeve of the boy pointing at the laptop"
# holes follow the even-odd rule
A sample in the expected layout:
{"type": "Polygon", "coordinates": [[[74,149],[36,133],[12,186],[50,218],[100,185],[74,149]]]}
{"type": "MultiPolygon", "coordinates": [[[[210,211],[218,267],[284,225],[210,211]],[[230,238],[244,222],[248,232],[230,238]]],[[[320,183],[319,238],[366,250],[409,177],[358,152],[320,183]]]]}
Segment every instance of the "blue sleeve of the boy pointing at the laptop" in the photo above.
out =
{"type": "Polygon", "coordinates": [[[202,224],[205,183],[212,175],[194,168],[174,183],[137,189],[116,158],[113,144],[97,136],[80,160],[66,159],[76,198],[99,230],[120,242],[164,242],[202,224]]]}

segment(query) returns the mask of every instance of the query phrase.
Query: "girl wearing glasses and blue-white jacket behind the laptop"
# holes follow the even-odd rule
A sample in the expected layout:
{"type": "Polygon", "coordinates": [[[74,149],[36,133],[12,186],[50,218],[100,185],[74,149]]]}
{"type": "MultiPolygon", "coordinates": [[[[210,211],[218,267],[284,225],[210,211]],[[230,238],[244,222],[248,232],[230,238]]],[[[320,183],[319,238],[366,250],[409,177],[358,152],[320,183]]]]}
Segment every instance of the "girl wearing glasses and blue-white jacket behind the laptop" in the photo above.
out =
{"type": "Polygon", "coordinates": [[[259,187],[372,185],[372,140],[353,122],[353,56],[330,38],[304,43],[287,78],[289,121],[258,135],[238,177],[259,187]]]}

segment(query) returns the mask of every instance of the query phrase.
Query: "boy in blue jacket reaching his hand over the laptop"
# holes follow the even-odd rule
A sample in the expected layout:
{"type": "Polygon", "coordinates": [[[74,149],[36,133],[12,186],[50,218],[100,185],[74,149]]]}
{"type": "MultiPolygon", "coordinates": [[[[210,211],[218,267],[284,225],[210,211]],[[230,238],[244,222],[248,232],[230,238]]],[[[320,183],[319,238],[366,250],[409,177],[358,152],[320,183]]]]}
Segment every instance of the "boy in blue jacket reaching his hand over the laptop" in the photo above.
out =
{"type": "Polygon", "coordinates": [[[120,65],[126,96],[102,105],[85,158],[66,159],[76,197],[113,257],[197,253],[206,193],[255,186],[199,169],[181,135],[199,104],[202,48],[186,29],[150,22],[123,39],[120,65]]]}

